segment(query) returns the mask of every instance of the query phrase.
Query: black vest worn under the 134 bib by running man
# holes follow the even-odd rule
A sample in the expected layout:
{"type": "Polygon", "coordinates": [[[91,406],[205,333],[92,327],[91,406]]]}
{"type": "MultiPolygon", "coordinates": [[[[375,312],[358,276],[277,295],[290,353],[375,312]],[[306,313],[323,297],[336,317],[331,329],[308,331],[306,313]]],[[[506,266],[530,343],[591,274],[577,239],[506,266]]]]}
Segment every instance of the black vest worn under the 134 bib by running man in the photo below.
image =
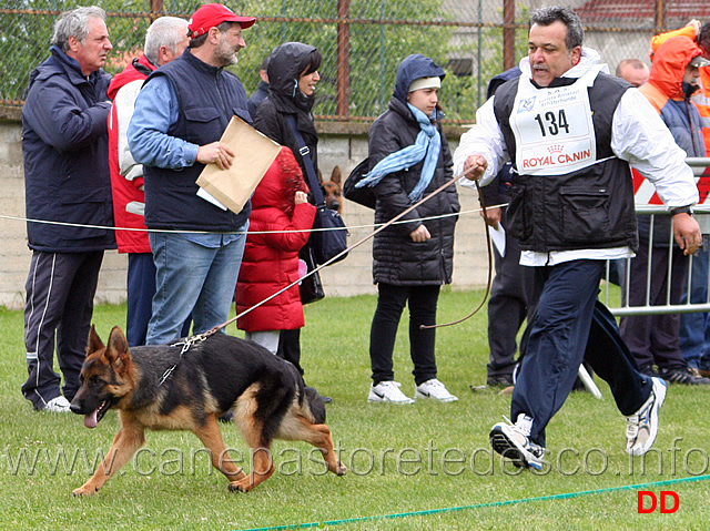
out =
{"type": "MultiPolygon", "coordinates": [[[[575,81],[560,78],[554,86],[575,81]]],[[[638,248],[631,171],[627,162],[613,156],[610,145],[613,113],[629,86],[611,75],[597,75],[589,88],[597,160],[611,159],[565,175],[518,173],[510,129],[518,80],[498,89],[494,111],[514,162],[506,228],[519,241],[520,248],[541,253],[625,245],[638,248]]]]}

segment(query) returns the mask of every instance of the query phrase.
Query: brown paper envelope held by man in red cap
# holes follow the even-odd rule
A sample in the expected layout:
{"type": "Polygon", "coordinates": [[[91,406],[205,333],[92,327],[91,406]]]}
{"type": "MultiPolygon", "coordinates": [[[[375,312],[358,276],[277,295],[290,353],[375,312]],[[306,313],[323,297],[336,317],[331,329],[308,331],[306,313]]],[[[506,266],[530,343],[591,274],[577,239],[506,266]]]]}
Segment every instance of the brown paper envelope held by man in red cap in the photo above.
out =
{"type": "Polygon", "coordinates": [[[229,145],[234,152],[232,166],[220,170],[216,164],[207,164],[197,177],[196,184],[239,214],[276,159],[281,145],[239,116],[232,116],[220,142],[229,145]]]}

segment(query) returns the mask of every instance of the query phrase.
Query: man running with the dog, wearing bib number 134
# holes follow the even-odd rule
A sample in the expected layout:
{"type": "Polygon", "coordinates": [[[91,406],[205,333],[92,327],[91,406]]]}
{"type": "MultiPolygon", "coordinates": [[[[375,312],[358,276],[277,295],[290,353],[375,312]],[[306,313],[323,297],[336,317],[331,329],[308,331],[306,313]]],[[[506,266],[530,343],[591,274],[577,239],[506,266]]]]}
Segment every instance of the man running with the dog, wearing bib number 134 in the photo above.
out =
{"type": "Polygon", "coordinates": [[[571,10],[535,11],[521,76],[478,110],[454,156],[455,172],[473,169],[468,178],[483,185],[506,161],[514,165],[507,228],[520,243],[520,264],[535,267],[536,310],[513,423],[496,423],[490,443],[516,466],[537,470],[545,429],[582,359],[609,384],[627,418],[626,451],[641,456],[656,440],[666,384],[638,371],[613,317],[597,300],[606,261],[638,248],[629,165],[655,184],[684,253],[701,242],[689,214],[698,190],[684,152],[643,95],[609,75],[582,38],[571,10]]]}

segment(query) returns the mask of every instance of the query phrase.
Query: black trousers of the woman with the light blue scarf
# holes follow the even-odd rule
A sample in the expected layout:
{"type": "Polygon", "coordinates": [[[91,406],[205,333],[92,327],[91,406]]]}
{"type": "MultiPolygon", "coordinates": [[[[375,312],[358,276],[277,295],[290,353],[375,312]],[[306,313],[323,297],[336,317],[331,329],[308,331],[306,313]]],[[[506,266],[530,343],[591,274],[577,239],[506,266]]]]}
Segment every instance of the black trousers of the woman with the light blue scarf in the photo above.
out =
{"type": "Polygon", "coordinates": [[[399,318],[409,306],[409,355],[414,362],[416,385],[436,378],[434,344],[436,329],[420,329],[419,325],[436,324],[436,306],[440,286],[393,286],[378,284],[377,308],[369,331],[369,359],[373,384],[393,380],[393,354],[399,318]]]}

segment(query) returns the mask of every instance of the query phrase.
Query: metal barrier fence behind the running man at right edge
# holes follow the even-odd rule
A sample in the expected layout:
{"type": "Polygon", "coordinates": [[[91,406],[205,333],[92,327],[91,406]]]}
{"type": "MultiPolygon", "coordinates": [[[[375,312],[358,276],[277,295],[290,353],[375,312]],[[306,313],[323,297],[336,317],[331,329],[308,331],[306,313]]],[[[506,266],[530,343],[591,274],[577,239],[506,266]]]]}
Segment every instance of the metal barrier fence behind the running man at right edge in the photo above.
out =
{"type": "MultiPolygon", "coordinates": [[[[686,279],[682,286],[682,293],[690,294],[691,286],[697,283],[703,283],[708,286],[708,282],[710,280],[710,268],[708,267],[707,254],[710,251],[710,236],[707,234],[710,228],[710,204],[706,204],[708,200],[708,186],[707,181],[710,181],[710,159],[687,159],[688,164],[693,169],[694,175],[698,177],[698,187],[700,190],[700,204],[693,208],[693,215],[696,216],[707,216],[708,222],[704,223],[701,221],[701,228],[703,228],[703,245],[701,253],[704,253],[706,256],[697,257],[689,256],[687,262],[687,273],[686,279]],[[697,263],[697,264],[696,264],[697,263]],[[693,267],[693,266],[698,267],[693,267]]],[[[612,278],[612,269],[613,264],[610,261],[607,261],[607,270],[606,278],[602,284],[602,302],[607,307],[609,307],[610,312],[617,316],[628,316],[628,315],[657,315],[657,314],[691,314],[691,313],[700,313],[700,312],[710,312],[710,289],[704,290],[704,300],[691,300],[691,297],[686,296],[684,300],[680,304],[673,304],[671,302],[671,288],[677,289],[678,286],[672,286],[671,279],[673,278],[673,259],[672,259],[672,249],[674,245],[673,233],[670,232],[669,241],[667,246],[661,246],[660,248],[653,245],[653,234],[655,234],[655,221],[657,217],[667,217],[668,212],[663,206],[657,205],[638,205],[636,207],[636,212],[642,216],[650,216],[649,221],[649,242],[642,245],[647,245],[648,251],[648,263],[646,264],[646,292],[645,292],[645,304],[642,305],[630,305],[630,262],[632,259],[638,258],[627,258],[623,261],[623,267],[621,269],[620,278],[617,279],[620,284],[620,289],[617,290],[611,287],[610,279],[612,278]],[[666,275],[666,297],[665,304],[661,305],[652,305],[650,304],[650,293],[651,293],[651,263],[653,255],[658,255],[658,253],[663,253],[668,259],[667,270],[663,273],[666,275]],[[620,300],[619,300],[620,299],[620,300]]],[[[699,217],[700,218],[700,217],[699,217]]],[[[671,221],[672,223],[672,221],[671,221]]],[[[671,225],[672,226],[672,225],[671,225]]]]}

